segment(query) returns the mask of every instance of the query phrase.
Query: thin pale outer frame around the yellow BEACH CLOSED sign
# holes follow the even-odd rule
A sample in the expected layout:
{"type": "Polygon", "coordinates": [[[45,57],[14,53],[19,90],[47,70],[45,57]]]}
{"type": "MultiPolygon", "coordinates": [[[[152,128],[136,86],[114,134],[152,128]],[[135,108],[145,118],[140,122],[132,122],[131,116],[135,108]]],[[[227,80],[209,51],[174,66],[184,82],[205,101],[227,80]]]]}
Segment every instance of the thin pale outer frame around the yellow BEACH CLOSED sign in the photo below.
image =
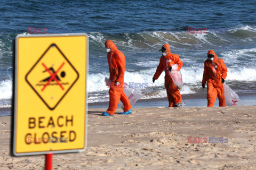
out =
{"type": "Polygon", "coordinates": [[[87,117],[88,117],[88,75],[89,75],[89,37],[86,33],[59,33],[59,34],[41,34],[41,35],[18,35],[15,37],[15,41],[13,43],[14,53],[13,53],[13,99],[12,99],[12,134],[11,134],[11,149],[10,154],[12,156],[28,156],[28,155],[44,155],[44,154],[61,154],[61,153],[69,153],[69,152],[82,152],[85,151],[87,147],[87,117]],[[86,73],[85,73],[85,120],[84,120],[84,148],[82,149],[67,149],[67,150],[53,150],[53,151],[33,151],[33,152],[16,152],[16,142],[17,142],[17,103],[18,103],[18,39],[24,37],[69,37],[69,36],[85,36],[86,37],[86,73]]]}

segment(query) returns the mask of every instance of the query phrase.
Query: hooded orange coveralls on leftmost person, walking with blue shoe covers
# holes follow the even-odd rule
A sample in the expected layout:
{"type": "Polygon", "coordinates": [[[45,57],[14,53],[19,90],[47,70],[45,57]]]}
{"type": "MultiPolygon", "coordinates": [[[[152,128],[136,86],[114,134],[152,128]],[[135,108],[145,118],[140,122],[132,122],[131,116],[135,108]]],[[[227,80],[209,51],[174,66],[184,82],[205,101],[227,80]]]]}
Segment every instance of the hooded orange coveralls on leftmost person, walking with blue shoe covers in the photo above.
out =
{"type": "Polygon", "coordinates": [[[111,80],[109,89],[109,107],[108,114],[114,115],[118,107],[119,100],[124,104],[124,112],[129,111],[132,106],[129,99],[124,94],[124,71],[125,71],[125,56],[120,52],[116,45],[111,40],[107,40],[105,46],[111,48],[111,52],[108,53],[108,68],[109,79],[111,80]],[[115,82],[119,82],[118,86],[115,86],[115,82]]]}

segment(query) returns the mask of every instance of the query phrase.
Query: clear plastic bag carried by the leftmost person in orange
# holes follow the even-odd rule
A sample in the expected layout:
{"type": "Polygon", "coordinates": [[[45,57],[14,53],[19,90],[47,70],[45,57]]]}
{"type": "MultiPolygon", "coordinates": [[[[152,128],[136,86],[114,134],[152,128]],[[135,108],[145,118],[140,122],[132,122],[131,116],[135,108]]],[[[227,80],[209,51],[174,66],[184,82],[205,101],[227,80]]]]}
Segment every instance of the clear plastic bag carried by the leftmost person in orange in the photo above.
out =
{"type": "MultiPolygon", "coordinates": [[[[110,80],[108,78],[105,78],[106,86],[110,86],[110,80]]],[[[124,83],[124,94],[128,97],[131,106],[134,105],[134,103],[139,100],[143,95],[140,91],[133,89],[130,87],[127,83],[124,83]]],[[[124,108],[124,105],[121,101],[119,101],[118,104],[122,109],[124,108]]]]}

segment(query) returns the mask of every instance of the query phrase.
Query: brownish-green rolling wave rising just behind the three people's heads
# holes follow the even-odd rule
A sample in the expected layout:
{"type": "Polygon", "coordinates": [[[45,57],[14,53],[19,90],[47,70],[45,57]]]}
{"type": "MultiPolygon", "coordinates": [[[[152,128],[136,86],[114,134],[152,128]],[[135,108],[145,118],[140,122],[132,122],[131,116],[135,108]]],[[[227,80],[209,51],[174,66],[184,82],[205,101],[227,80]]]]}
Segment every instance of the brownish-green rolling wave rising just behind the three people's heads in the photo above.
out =
{"type": "MultiPolygon", "coordinates": [[[[204,31],[203,31],[204,32],[204,31]]],[[[144,31],[137,33],[102,33],[89,32],[90,43],[101,45],[107,39],[114,40],[117,47],[126,50],[158,49],[169,43],[173,49],[188,49],[191,47],[209,47],[238,44],[239,42],[256,40],[256,27],[253,25],[238,25],[236,28],[207,28],[207,33],[188,33],[180,30],[144,31]]]]}

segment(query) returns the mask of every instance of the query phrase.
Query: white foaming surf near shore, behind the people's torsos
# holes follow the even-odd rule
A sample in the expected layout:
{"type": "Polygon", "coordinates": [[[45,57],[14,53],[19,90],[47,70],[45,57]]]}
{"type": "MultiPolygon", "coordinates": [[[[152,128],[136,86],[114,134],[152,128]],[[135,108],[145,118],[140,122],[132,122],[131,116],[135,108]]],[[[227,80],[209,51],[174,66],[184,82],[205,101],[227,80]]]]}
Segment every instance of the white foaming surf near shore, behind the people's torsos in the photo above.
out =
{"type": "MultiPolygon", "coordinates": [[[[154,69],[140,70],[137,72],[125,72],[124,81],[127,83],[140,83],[147,84],[147,87],[151,91],[154,90],[154,87],[164,88],[164,72],[160,75],[158,80],[155,83],[152,82],[153,75],[156,71],[154,69]]],[[[203,67],[182,67],[182,79],[184,83],[184,88],[181,90],[181,94],[192,94],[194,93],[193,88],[200,86],[203,78],[203,67]]],[[[109,77],[108,73],[96,73],[89,74],[87,79],[87,92],[91,95],[91,99],[99,98],[96,94],[102,92],[106,94],[109,88],[106,86],[105,77],[109,77]]],[[[256,81],[256,69],[239,67],[239,68],[229,68],[226,82],[236,81],[236,82],[250,82],[256,81]]],[[[143,86],[141,90],[145,89],[143,86]]],[[[147,91],[148,92],[148,91],[147,91]]],[[[12,97],[12,80],[4,80],[0,82],[0,99],[11,99],[12,97]]]]}

